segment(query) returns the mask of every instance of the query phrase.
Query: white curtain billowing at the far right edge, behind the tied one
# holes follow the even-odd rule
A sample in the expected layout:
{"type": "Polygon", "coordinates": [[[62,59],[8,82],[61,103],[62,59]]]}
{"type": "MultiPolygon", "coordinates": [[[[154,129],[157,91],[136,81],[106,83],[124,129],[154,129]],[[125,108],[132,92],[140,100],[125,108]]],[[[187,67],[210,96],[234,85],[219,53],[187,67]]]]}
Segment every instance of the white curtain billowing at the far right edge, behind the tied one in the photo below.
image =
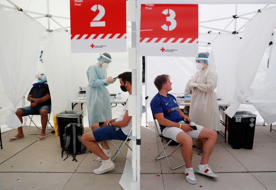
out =
{"type": "Polygon", "coordinates": [[[267,124],[276,121],[276,46],[272,50],[269,69],[264,80],[249,89],[251,94],[248,97],[267,124]]]}

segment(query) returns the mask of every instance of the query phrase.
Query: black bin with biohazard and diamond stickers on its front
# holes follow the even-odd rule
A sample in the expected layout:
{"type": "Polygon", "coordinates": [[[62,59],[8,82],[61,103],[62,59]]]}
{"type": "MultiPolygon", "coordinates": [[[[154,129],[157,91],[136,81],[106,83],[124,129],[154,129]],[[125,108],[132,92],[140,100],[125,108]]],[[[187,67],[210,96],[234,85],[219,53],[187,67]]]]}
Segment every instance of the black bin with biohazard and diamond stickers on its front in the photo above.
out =
{"type": "Polygon", "coordinates": [[[237,111],[228,118],[228,144],[233,149],[252,149],[256,115],[250,111],[237,111]]]}

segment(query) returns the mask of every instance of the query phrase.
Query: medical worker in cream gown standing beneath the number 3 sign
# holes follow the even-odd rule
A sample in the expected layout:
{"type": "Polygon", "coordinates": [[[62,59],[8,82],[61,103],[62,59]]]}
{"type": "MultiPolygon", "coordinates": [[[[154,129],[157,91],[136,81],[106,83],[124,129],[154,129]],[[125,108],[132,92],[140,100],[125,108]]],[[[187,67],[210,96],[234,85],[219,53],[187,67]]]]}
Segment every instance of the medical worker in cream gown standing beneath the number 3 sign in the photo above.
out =
{"type": "MultiPolygon", "coordinates": [[[[208,52],[198,54],[196,58],[195,73],[187,87],[193,89],[189,117],[198,125],[212,130],[220,130],[220,115],[218,101],[214,89],[217,85],[218,75],[208,66],[208,52]]],[[[196,139],[193,149],[203,148],[206,139],[196,139]]],[[[198,154],[202,155],[203,150],[198,154]]]]}

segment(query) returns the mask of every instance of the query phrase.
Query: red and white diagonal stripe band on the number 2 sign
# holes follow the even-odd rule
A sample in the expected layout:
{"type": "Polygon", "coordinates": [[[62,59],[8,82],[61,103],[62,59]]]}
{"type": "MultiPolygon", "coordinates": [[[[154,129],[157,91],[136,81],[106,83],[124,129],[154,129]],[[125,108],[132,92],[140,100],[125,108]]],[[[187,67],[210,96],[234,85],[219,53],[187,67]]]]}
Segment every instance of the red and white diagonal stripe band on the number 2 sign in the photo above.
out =
{"type": "Polygon", "coordinates": [[[127,38],[127,34],[75,34],[71,35],[71,39],[115,39],[115,38],[127,38]]]}

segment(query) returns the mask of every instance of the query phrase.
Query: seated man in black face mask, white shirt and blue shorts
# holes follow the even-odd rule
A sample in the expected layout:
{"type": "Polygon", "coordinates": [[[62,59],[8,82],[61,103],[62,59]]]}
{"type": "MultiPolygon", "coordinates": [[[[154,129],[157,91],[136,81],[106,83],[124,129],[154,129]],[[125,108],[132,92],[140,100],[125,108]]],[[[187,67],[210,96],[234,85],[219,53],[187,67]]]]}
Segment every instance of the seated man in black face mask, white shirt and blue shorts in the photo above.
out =
{"type": "MultiPolygon", "coordinates": [[[[124,72],[118,75],[120,79],[120,87],[122,91],[132,93],[131,87],[131,72],[124,72]]],[[[129,116],[129,102],[126,101],[124,108],[116,119],[106,120],[104,124],[99,126],[99,123],[92,124],[90,132],[83,134],[81,137],[82,143],[92,153],[97,155],[97,160],[101,161],[101,167],[95,169],[95,174],[103,174],[115,168],[115,164],[111,160],[114,155],[110,152],[107,140],[126,139],[132,127],[132,117],[129,116]],[[103,150],[97,142],[101,143],[103,150]]]]}

